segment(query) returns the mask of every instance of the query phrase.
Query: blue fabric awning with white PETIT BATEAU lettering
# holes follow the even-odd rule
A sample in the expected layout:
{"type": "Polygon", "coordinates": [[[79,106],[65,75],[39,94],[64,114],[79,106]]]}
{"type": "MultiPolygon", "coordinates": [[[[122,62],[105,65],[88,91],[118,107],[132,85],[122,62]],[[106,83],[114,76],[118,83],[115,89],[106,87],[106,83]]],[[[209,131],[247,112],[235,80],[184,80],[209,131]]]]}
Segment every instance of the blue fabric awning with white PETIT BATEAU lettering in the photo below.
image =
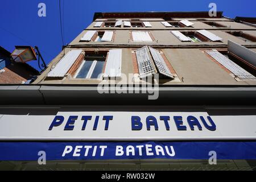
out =
{"type": "Polygon", "coordinates": [[[256,159],[256,142],[0,142],[0,160],[209,159],[214,152],[256,159]]]}

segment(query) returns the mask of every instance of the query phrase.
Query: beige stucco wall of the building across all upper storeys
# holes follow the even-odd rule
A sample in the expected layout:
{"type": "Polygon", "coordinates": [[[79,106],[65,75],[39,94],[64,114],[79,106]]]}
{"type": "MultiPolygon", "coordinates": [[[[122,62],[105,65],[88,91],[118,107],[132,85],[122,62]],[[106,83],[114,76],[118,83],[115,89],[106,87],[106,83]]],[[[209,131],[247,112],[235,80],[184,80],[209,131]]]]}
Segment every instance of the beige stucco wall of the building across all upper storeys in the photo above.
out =
{"type": "MultiPolygon", "coordinates": [[[[188,18],[187,18],[188,19],[188,18]]],[[[137,49],[143,46],[161,46],[164,55],[166,55],[168,61],[170,61],[172,67],[175,69],[178,80],[180,81],[167,81],[164,84],[167,85],[256,85],[255,81],[237,81],[235,80],[229,73],[224,71],[219,65],[214,63],[204,52],[202,52],[203,46],[207,46],[208,48],[216,48],[216,46],[221,46],[222,48],[226,48],[228,44],[228,40],[232,40],[242,46],[254,46],[251,50],[256,51],[256,42],[244,42],[243,40],[237,38],[236,36],[230,35],[225,31],[237,30],[243,31],[247,34],[256,36],[256,28],[247,26],[245,24],[233,22],[230,19],[226,18],[216,18],[216,19],[207,19],[206,20],[214,20],[218,23],[224,24],[228,27],[225,28],[214,28],[197,20],[195,18],[191,18],[191,22],[195,23],[193,28],[175,28],[175,27],[164,27],[161,21],[163,19],[141,19],[141,21],[149,21],[152,27],[142,27],[142,28],[131,28],[131,27],[113,27],[113,28],[104,28],[104,27],[93,27],[95,22],[92,22],[87,28],[87,30],[83,30],[70,44],[69,46],[81,46],[82,49],[86,51],[86,46],[90,46],[90,48],[111,48],[117,47],[122,48],[122,73],[128,76],[129,73],[133,73],[133,62],[132,62],[132,54],[131,48],[137,49]],[[192,31],[192,30],[201,30],[205,29],[217,36],[222,38],[222,42],[180,42],[174,35],[171,34],[171,30],[179,30],[179,31],[192,31]],[[80,39],[86,31],[88,30],[114,30],[115,31],[115,39],[114,42],[80,42],[80,39]],[[150,31],[151,34],[155,38],[155,42],[151,43],[142,43],[142,42],[132,42],[130,41],[129,31],[132,30],[143,30],[150,31]],[[105,45],[105,46],[104,46],[105,45]],[[166,46],[166,47],[165,47],[166,46]],[[165,48],[164,48],[165,47],[165,48]],[[183,82],[181,81],[183,78],[183,82]]],[[[104,21],[106,19],[97,19],[97,21],[104,21]]],[[[129,19],[122,19],[129,20],[129,19]]],[[[181,19],[174,19],[181,20],[181,19]]],[[[70,48],[65,48],[65,52],[67,53],[70,48]]],[[[71,77],[65,77],[61,80],[58,79],[45,79],[47,73],[51,70],[52,65],[55,65],[60,59],[63,57],[63,51],[57,55],[55,59],[49,63],[46,71],[42,73],[38,77],[38,79],[34,82],[34,84],[98,84],[99,80],[93,79],[76,79],[71,77]]]]}

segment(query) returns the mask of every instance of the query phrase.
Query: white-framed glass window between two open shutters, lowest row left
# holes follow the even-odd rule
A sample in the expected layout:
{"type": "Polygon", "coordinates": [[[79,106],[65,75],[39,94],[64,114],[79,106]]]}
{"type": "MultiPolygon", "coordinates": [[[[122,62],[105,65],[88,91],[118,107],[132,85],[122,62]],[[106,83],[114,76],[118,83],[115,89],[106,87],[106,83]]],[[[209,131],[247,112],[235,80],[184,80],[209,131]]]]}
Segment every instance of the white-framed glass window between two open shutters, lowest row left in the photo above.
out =
{"type": "Polygon", "coordinates": [[[75,78],[98,78],[103,71],[105,60],[105,55],[86,55],[75,78]]]}

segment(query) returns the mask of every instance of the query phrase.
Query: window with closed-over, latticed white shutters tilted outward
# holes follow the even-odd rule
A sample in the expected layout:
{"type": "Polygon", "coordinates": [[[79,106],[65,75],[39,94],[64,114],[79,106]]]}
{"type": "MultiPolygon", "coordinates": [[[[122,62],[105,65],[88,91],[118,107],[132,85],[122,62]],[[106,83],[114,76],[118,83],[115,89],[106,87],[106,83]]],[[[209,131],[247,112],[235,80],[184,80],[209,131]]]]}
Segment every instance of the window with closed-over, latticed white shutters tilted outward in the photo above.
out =
{"type": "Polygon", "coordinates": [[[159,73],[161,77],[174,79],[174,75],[158,50],[145,46],[137,49],[135,56],[140,78],[154,76],[155,73],[159,73]]]}

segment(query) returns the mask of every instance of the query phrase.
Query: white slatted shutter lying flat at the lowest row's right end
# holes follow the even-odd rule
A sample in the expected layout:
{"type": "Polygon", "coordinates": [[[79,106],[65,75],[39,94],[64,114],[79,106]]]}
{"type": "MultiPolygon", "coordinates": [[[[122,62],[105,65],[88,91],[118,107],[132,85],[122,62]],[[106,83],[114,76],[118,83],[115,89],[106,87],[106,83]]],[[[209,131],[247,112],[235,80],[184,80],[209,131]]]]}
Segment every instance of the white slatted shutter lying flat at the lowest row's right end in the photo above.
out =
{"type": "Polygon", "coordinates": [[[213,59],[218,61],[218,63],[222,64],[226,67],[230,72],[232,72],[235,76],[239,78],[255,78],[249,72],[245,71],[245,69],[241,68],[239,65],[234,63],[232,60],[228,59],[228,57],[222,55],[222,53],[212,50],[207,51],[208,55],[212,56],[213,59]]]}

